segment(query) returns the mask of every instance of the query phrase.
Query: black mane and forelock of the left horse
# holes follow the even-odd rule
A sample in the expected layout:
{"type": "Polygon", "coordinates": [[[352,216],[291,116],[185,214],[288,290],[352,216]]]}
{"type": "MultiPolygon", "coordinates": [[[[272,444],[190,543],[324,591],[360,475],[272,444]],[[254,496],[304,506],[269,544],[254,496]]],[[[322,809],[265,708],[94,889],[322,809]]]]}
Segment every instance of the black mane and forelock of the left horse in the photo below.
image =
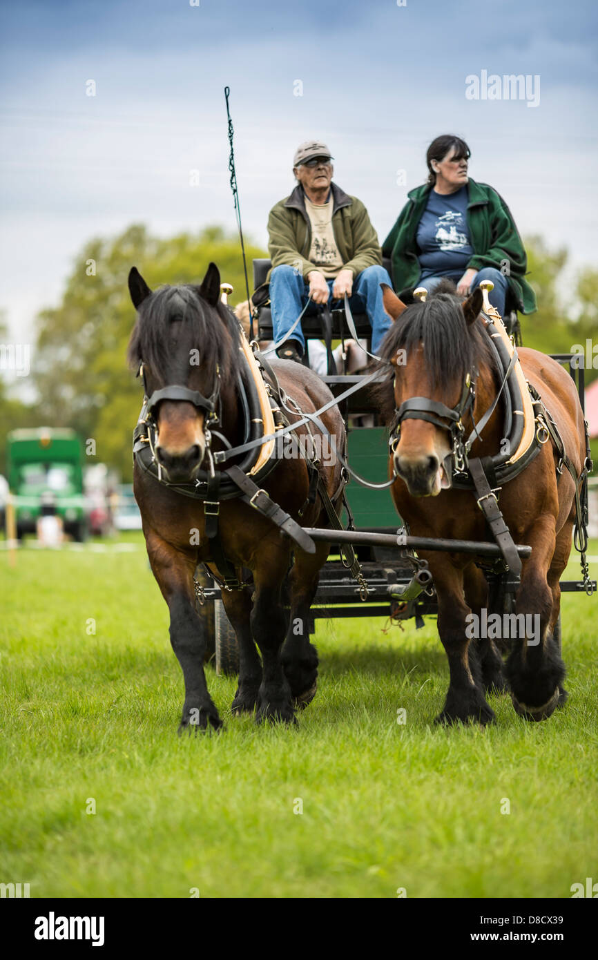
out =
{"type": "Polygon", "coordinates": [[[239,324],[224,303],[211,306],[194,284],[163,286],[139,305],[128,360],[133,369],[147,364],[164,383],[186,383],[189,349],[199,349],[201,366],[214,370],[219,364],[223,375],[230,376],[238,370],[238,343],[239,324]],[[179,320],[180,343],[173,350],[171,324],[179,320]],[[179,380],[173,381],[173,376],[179,380]]]}

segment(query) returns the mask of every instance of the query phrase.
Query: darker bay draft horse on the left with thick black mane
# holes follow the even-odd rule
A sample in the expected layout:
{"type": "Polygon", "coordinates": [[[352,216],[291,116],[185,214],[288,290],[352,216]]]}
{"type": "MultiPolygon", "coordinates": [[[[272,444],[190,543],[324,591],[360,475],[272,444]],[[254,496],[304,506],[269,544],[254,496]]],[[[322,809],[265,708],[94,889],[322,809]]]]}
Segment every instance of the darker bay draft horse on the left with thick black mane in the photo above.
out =
{"type": "MultiPolygon", "coordinates": [[[[155,292],[132,268],[129,288],[137,309],[129,361],[135,370],[143,364],[147,395],[177,384],[209,396],[218,365],[219,430],[232,446],[242,444],[243,417],[236,390],[241,362],[239,324],[220,300],[218,268],[213,263],[209,265],[201,286],[164,286],[155,292]],[[199,364],[190,360],[197,358],[197,351],[199,364]]],[[[305,367],[291,361],[273,360],[272,369],[280,386],[301,410],[313,413],[332,399],[320,377],[305,367]]],[[[190,483],[197,476],[206,453],[204,415],[204,410],[187,400],[160,400],[155,413],[155,455],[169,482],[190,483]]],[[[288,414],[288,417],[291,422],[299,420],[299,415],[294,418],[288,414]]],[[[322,420],[331,435],[331,443],[344,450],[345,424],[338,408],[332,406],[322,415],[322,420]]],[[[300,426],[297,432],[305,430],[305,426],[300,426]]],[[[312,431],[320,432],[315,425],[312,431]]],[[[215,434],[212,438],[212,450],[226,448],[215,434]]],[[[298,446],[301,448],[300,441],[298,446]]],[[[227,466],[238,463],[239,459],[228,461],[227,466]]],[[[328,495],[332,497],[341,485],[341,464],[331,457],[320,470],[328,495]]],[[[263,482],[263,488],[303,526],[327,525],[320,496],[315,503],[306,505],[309,478],[303,459],[280,459],[263,482]]],[[[195,607],[193,580],[198,563],[206,563],[216,570],[210,563],[213,558],[205,537],[203,501],[160,484],[136,463],[133,489],[150,564],[170,612],[171,643],[184,677],[185,699],[179,732],[193,727],[196,731],[210,727],[217,730],[222,721],[203,673],[205,636],[203,621],[195,607]],[[196,531],[194,538],[192,534],[196,531]],[[192,545],[198,540],[199,545],[192,545]]],[[[340,510],[338,497],[337,503],[340,510]]],[[[239,683],[232,712],[257,708],[258,722],[266,719],[294,722],[294,707],[308,703],[315,691],[318,656],[315,646],[309,642],[308,612],[329,544],[318,542],[315,553],[309,554],[291,540],[283,539],[271,520],[238,499],[221,503],[219,533],[224,555],[238,574],[241,568],[247,567],[253,575],[251,586],[222,591],[227,617],[239,645],[239,683]],[[288,590],[290,616],[283,608],[283,584],[288,590]]]]}

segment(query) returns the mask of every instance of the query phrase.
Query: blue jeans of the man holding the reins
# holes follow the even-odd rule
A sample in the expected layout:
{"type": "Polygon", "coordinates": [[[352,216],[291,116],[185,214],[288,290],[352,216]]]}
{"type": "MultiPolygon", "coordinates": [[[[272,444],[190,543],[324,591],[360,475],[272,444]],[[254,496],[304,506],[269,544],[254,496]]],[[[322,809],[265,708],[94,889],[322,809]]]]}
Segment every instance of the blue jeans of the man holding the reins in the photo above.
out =
{"type": "MultiPolygon", "coordinates": [[[[362,313],[365,309],[368,314],[371,323],[372,353],[377,353],[384,334],[393,325],[393,321],[384,311],[381,283],[388,283],[389,287],[393,289],[391,277],[384,267],[366,267],[361,274],[354,277],[353,293],[348,299],[351,312],[362,313]]],[[[334,302],[335,307],[337,305],[342,307],[343,300],[332,300],[334,280],[327,280],[327,284],[330,291],[328,306],[334,302]]],[[[275,267],[270,276],[270,302],[275,342],[280,340],[287,330],[293,326],[307,303],[308,296],[309,283],[303,279],[294,267],[289,267],[286,264],[275,267]]],[[[310,303],[303,316],[317,313],[318,308],[318,304],[310,303]]],[[[290,339],[297,340],[303,353],[305,352],[305,340],[301,324],[295,327],[290,339]]]]}

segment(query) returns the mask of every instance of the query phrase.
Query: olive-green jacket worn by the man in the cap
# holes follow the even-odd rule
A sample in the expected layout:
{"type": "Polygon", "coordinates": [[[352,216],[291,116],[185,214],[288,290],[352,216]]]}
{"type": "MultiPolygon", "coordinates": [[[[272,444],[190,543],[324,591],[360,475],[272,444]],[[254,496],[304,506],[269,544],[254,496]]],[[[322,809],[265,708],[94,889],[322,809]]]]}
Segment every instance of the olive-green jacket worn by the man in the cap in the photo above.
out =
{"type": "MultiPolygon", "coordinates": [[[[343,269],[351,270],[353,276],[357,276],[366,267],[380,266],[382,253],[366,207],[356,197],[349,197],[336,183],[331,183],[330,187],[334,199],[332,230],[343,259],[343,269]]],[[[300,269],[305,278],[312,270],[322,270],[308,259],[311,249],[311,224],[300,184],[295,187],[290,197],[285,197],[273,206],[268,218],[268,234],[268,250],[273,270],[286,263],[300,269]]],[[[268,274],[268,281],[271,273],[272,270],[268,274]]]]}

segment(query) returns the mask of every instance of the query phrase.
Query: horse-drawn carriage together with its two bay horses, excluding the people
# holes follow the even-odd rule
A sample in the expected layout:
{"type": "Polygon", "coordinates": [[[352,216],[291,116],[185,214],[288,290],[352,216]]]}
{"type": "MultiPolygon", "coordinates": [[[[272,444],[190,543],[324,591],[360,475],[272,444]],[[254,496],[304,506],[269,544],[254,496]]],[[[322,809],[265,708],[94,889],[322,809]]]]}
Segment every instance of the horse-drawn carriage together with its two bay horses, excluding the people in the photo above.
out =
{"type": "MultiPolygon", "coordinates": [[[[256,286],[267,269],[268,261],[254,264],[256,286]]],[[[415,291],[410,306],[389,288],[385,308],[395,324],[384,341],[381,368],[352,376],[329,371],[322,378],[333,395],[328,398],[315,374],[301,373],[304,368],[290,361],[271,365],[268,351],[264,355],[256,349],[253,355],[242,334],[242,363],[237,369],[227,350],[239,336],[234,330],[238,324],[220,302],[220,276],[213,265],[201,287],[163,288],[152,295],[132,271],[130,288],[139,309],[130,358],[141,365],[145,391],[133,436],[135,495],[148,520],[148,553],[171,610],[171,639],[185,675],[181,728],[220,726],[203,670],[201,676],[198,672],[198,650],[205,659],[215,656],[218,672],[233,673],[240,667],[233,712],[257,706],[258,719],[293,719],[289,684],[296,706],[309,703],[315,692],[317,657],[308,637],[318,617],[415,617],[420,625],[422,616],[439,615],[451,674],[440,719],[488,722],[493,714],[483,690],[506,688],[502,660],[490,633],[464,636],[464,627],[470,612],[481,609],[499,619],[512,617],[512,624],[522,616],[523,634],[511,644],[507,663],[514,708],[538,720],[564,701],[560,593],[595,589],[584,555],[586,476],[591,468],[584,430],[584,370],[572,362],[572,354],[553,358],[568,364],[570,377],[536,351],[523,350],[525,364],[523,360],[519,364],[514,336],[509,337],[490,307],[488,284],[484,293],[478,289],[463,303],[454,293],[441,290],[426,304],[425,292],[415,291]],[[396,323],[405,310],[405,322],[396,323]],[[424,312],[427,325],[422,326],[424,312]],[[189,324],[187,328],[179,323],[190,314],[196,318],[194,333],[189,324]],[[166,336],[174,324],[179,324],[180,336],[174,340],[183,357],[185,350],[186,355],[197,352],[191,345],[198,330],[203,336],[209,363],[204,364],[203,357],[195,373],[189,372],[189,361],[185,370],[180,357],[166,362],[159,353],[160,335],[166,336]],[[208,348],[214,334],[218,343],[208,348]],[[423,365],[412,364],[415,380],[405,394],[407,367],[396,376],[401,358],[410,355],[417,360],[419,354],[423,365]],[[148,369],[154,389],[146,383],[148,369]],[[191,376],[196,389],[190,389],[191,376]],[[236,379],[236,387],[227,384],[227,377],[236,379]],[[417,389],[422,382],[423,391],[417,389]],[[228,388],[233,393],[227,393],[228,388]],[[182,426],[180,401],[188,411],[182,426]],[[227,423],[231,402],[238,421],[227,423]],[[385,423],[389,419],[390,439],[385,423]],[[467,436],[469,424],[473,429],[467,436]],[[483,430],[487,445],[480,453],[483,430]],[[303,466],[296,465],[295,470],[288,464],[278,466],[269,476],[276,457],[272,449],[267,456],[265,448],[274,444],[273,438],[299,434],[309,434],[313,444],[318,432],[321,440],[327,434],[340,445],[334,464],[326,465],[314,455],[311,461],[307,458],[309,490],[307,499],[299,500],[298,511],[290,487],[303,466]],[[242,459],[242,469],[227,468],[235,458],[237,463],[242,459]],[[345,497],[348,473],[354,479],[345,497]],[[396,482],[397,477],[403,483],[396,482]],[[445,495],[437,498],[441,490],[445,495]],[[505,523],[499,495],[513,530],[505,523]],[[196,500],[193,507],[187,500],[187,509],[185,497],[196,500]],[[255,508],[260,521],[267,517],[279,530],[262,525],[251,539],[251,511],[235,513],[241,507],[239,497],[255,508]],[[343,514],[341,497],[347,526],[338,519],[343,514]],[[286,503],[289,513],[276,500],[286,503]],[[293,503],[300,524],[290,516],[288,505],[293,503]],[[230,535],[221,508],[230,518],[230,535]],[[154,521],[158,510],[163,511],[159,522],[154,521]],[[410,529],[397,511],[403,520],[410,517],[410,529]],[[309,516],[319,518],[321,525],[314,526],[309,516]],[[175,534],[174,524],[180,526],[175,534]],[[186,530],[191,549],[183,542],[186,530]],[[266,537],[264,531],[270,530],[266,537]],[[455,530],[463,532],[456,537],[455,530]],[[521,531],[530,542],[514,542],[521,531]],[[582,579],[562,581],[573,534],[582,551],[582,579]],[[273,562],[266,575],[273,536],[275,549],[287,540],[284,556],[290,565],[275,571],[273,562]],[[238,550],[237,540],[245,542],[238,550]],[[230,564],[227,554],[232,552],[235,562],[230,564]],[[316,561],[310,561],[309,554],[315,554],[316,561]],[[244,557],[249,558],[247,566],[244,557]],[[200,561],[193,578],[202,635],[197,646],[193,632],[197,633],[198,621],[192,625],[189,609],[193,558],[200,561]],[[286,569],[290,573],[284,581],[286,569]],[[261,580],[268,576],[278,586],[262,588],[261,580]],[[283,583],[290,584],[286,602],[280,593],[283,583]],[[538,630],[531,630],[525,620],[532,614],[538,617],[538,630]],[[279,641],[271,646],[270,636],[276,632],[282,636],[286,632],[282,654],[279,641]],[[467,655],[472,637],[479,640],[479,651],[467,655]],[[253,640],[262,655],[263,675],[253,640]]],[[[226,296],[223,299],[226,302],[226,296]]],[[[267,308],[258,310],[255,320],[258,339],[271,340],[267,308]]],[[[318,316],[304,317],[302,327],[306,338],[323,336],[318,316]]],[[[351,317],[346,302],[345,311],[331,312],[326,335],[329,348],[331,338],[369,337],[370,324],[365,315],[351,317]]],[[[504,639],[500,630],[493,636],[504,639]]]]}

